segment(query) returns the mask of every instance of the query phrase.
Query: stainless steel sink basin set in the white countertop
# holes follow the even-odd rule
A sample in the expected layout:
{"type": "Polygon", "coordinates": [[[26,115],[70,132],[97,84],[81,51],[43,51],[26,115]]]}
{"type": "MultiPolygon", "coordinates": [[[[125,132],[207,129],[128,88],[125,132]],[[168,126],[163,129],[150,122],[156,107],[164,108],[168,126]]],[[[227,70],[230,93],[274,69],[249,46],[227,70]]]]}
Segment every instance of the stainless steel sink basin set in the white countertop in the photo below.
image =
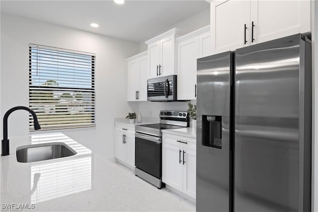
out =
{"type": "Polygon", "coordinates": [[[77,152],[63,142],[31,144],[16,148],[16,160],[21,163],[69,157],[77,152]]]}

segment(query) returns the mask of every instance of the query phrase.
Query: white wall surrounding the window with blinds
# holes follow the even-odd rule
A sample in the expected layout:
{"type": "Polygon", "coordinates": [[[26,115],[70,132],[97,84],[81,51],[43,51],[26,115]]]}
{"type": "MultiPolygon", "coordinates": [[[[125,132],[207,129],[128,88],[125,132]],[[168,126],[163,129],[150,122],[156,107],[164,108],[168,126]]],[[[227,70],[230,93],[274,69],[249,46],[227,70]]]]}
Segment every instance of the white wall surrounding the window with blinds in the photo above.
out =
{"type": "MultiPolygon", "coordinates": [[[[29,105],[29,43],[96,54],[96,127],[59,131],[104,157],[114,156],[113,118],[137,108],[127,103],[125,59],[138,53],[139,44],[1,13],[1,118],[13,106],[29,105]]],[[[29,134],[28,113],[12,113],[8,129],[9,136],[29,134]]]]}

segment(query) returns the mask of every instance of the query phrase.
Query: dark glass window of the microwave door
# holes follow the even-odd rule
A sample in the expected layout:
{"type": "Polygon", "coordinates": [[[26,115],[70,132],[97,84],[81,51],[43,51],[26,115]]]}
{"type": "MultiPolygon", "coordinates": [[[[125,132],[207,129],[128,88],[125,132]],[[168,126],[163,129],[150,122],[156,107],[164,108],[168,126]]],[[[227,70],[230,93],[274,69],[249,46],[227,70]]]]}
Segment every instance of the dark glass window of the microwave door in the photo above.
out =
{"type": "Polygon", "coordinates": [[[148,97],[171,96],[172,92],[173,81],[148,84],[148,97]]]}

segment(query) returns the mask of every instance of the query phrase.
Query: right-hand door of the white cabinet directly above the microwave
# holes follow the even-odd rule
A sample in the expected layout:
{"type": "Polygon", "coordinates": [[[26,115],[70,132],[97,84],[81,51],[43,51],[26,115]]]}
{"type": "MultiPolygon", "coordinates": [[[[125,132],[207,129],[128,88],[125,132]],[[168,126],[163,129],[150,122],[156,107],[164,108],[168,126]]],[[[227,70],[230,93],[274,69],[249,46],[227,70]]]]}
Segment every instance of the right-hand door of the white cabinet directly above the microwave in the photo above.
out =
{"type": "Polygon", "coordinates": [[[175,74],[175,39],[170,35],[160,40],[159,76],[175,74]]]}

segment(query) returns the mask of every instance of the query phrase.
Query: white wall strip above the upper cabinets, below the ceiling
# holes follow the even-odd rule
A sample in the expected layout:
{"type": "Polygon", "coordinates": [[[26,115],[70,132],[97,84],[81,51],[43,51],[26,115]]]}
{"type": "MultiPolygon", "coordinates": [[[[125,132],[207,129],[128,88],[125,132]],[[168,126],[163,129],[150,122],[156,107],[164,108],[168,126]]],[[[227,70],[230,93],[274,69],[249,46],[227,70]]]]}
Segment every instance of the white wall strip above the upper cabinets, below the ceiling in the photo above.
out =
{"type": "MultiPolygon", "coordinates": [[[[158,33],[158,35],[172,28],[179,28],[179,29],[185,30],[186,32],[192,32],[202,27],[205,27],[209,24],[210,24],[210,7],[162,30],[160,33],[158,33]]],[[[151,39],[151,37],[149,39],[151,39]]],[[[145,43],[145,41],[146,40],[139,43],[139,52],[147,51],[148,46],[145,43]]]]}

